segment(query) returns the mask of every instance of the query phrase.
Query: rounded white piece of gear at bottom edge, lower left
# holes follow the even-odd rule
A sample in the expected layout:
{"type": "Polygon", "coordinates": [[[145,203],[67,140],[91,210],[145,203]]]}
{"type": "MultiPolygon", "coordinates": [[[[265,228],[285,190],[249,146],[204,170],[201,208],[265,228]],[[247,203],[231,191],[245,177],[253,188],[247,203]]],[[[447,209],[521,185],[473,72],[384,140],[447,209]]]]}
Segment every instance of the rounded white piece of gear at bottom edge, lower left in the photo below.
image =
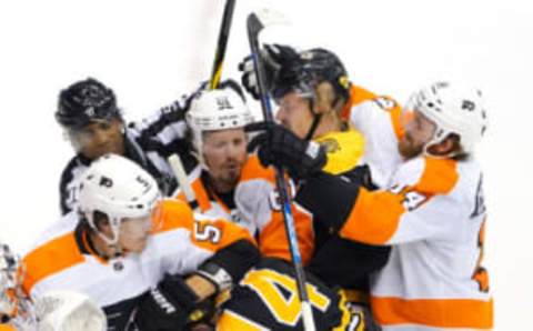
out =
{"type": "Polygon", "coordinates": [[[82,293],[51,291],[36,301],[40,331],[104,331],[103,310],[82,293]]]}

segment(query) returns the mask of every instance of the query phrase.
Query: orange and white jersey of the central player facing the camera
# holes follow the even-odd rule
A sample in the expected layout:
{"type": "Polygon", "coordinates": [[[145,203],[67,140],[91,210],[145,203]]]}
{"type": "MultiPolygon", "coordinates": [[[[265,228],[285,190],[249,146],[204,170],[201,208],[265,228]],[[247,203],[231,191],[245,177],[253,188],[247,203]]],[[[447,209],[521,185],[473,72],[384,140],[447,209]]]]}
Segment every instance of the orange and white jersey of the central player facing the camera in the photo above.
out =
{"type": "MultiPolygon", "coordinates": [[[[232,220],[245,228],[257,239],[261,255],[291,260],[275,173],[262,167],[257,156],[248,158],[234,191],[225,197],[214,192],[209,174],[201,167],[192,171],[189,179],[202,213],[232,220]]],[[[175,195],[185,200],[181,190],[175,195]]],[[[312,217],[298,204],[292,205],[292,213],[302,261],[308,263],[314,250],[312,217]]]]}

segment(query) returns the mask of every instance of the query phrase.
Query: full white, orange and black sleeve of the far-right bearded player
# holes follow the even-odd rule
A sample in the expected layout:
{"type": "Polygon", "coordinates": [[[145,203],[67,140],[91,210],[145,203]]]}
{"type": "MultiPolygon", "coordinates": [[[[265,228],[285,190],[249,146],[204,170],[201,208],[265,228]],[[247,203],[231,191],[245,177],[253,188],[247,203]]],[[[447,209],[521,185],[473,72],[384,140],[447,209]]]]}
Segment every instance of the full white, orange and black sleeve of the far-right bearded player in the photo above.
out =
{"type": "Polygon", "coordinates": [[[323,174],[305,183],[296,200],[342,238],[394,244],[450,235],[456,229],[460,211],[449,193],[457,180],[456,161],[419,158],[399,169],[388,190],[369,191],[323,174]]]}

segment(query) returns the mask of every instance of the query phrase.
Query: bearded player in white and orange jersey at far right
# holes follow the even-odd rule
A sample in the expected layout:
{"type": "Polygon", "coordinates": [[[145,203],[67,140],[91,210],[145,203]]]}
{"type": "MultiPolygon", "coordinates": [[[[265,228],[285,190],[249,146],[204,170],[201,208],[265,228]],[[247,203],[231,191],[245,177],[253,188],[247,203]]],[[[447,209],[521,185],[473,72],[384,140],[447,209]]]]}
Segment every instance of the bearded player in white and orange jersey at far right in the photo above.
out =
{"type": "MultiPolygon", "coordinates": [[[[385,126],[391,117],[375,102],[351,112],[354,122],[368,128],[393,128],[385,126]]],[[[405,160],[386,190],[370,192],[308,167],[293,170],[315,173],[301,181],[296,201],[326,215],[318,219],[342,238],[392,247],[371,284],[373,314],[384,330],[492,329],[493,300],[481,265],[483,177],[474,158],[486,128],[482,96],[434,83],[413,94],[400,123],[398,138],[388,130],[375,133],[392,137],[381,142],[384,150],[405,160]]],[[[265,162],[301,168],[310,162],[299,158],[326,158],[323,152],[288,154],[285,146],[271,139],[272,132],[260,138],[259,156],[269,156],[265,162]]],[[[293,134],[284,130],[281,136],[293,134]]],[[[300,140],[293,150],[304,151],[308,144],[300,140]]]]}

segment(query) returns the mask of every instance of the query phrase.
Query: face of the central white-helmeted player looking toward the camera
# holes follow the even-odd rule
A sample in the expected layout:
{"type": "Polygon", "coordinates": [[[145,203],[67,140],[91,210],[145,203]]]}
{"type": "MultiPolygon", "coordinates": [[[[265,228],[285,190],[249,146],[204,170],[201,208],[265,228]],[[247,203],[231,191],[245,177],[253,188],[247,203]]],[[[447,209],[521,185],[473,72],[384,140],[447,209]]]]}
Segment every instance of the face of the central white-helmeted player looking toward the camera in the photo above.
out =
{"type": "Polygon", "coordinates": [[[218,189],[231,190],[237,185],[247,161],[247,143],[242,128],[204,133],[203,158],[218,189]]]}

